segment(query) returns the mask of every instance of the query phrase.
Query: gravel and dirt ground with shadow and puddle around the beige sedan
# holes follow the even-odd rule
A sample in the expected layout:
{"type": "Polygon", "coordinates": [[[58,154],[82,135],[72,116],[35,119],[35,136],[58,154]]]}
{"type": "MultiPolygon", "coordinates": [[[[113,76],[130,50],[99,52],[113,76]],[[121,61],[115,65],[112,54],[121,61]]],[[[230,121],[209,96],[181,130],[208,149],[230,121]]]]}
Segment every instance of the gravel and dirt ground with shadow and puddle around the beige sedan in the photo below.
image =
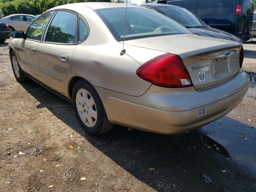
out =
{"type": "MultiPolygon", "coordinates": [[[[0,44],[1,54],[7,46],[0,44]]],[[[256,39],[244,50],[243,68],[253,76],[256,39]]],[[[7,55],[0,71],[2,192],[256,192],[253,82],[236,109],[203,129],[166,136],[114,126],[94,137],[80,128],[71,104],[32,81],[16,82],[7,55]]]]}

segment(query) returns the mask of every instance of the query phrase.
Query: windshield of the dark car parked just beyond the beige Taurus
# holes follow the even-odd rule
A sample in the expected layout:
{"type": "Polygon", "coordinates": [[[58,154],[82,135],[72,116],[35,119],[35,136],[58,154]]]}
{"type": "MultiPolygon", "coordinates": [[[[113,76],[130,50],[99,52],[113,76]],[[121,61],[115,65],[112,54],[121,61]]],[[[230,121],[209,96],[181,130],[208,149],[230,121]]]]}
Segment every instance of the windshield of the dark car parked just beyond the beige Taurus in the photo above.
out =
{"type": "Polygon", "coordinates": [[[180,7],[158,7],[163,14],[176,20],[180,24],[188,28],[193,27],[208,27],[200,18],[192,14],[190,11],[180,7]]]}

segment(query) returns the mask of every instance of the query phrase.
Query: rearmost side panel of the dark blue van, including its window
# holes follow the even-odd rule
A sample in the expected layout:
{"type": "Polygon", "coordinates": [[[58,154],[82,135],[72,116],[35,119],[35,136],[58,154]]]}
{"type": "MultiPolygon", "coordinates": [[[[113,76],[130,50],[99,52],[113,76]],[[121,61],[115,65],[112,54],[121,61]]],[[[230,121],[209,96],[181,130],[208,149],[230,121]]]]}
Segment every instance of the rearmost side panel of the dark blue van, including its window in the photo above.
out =
{"type": "Polygon", "coordinates": [[[234,0],[199,0],[196,15],[212,28],[234,34],[235,6],[234,0]]]}

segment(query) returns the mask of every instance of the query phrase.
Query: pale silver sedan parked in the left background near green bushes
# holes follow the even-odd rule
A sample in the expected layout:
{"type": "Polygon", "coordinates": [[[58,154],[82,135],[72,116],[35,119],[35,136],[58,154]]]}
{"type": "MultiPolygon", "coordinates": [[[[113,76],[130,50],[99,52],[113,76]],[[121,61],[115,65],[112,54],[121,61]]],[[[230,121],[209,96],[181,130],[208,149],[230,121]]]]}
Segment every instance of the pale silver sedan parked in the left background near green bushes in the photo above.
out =
{"type": "Polygon", "coordinates": [[[25,32],[35,19],[36,17],[34,15],[14,14],[0,19],[0,23],[6,23],[12,35],[14,31],[25,32]]]}

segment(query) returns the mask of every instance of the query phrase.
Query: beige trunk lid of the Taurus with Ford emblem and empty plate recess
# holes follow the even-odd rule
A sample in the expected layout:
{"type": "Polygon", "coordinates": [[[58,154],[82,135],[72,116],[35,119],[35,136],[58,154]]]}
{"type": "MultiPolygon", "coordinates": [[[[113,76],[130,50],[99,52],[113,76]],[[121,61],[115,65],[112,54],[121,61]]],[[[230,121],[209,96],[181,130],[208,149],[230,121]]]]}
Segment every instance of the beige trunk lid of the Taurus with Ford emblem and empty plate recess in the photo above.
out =
{"type": "Polygon", "coordinates": [[[191,34],[142,38],[125,44],[180,56],[196,90],[220,84],[240,70],[242,46],[234,41],[191,34]]]}

